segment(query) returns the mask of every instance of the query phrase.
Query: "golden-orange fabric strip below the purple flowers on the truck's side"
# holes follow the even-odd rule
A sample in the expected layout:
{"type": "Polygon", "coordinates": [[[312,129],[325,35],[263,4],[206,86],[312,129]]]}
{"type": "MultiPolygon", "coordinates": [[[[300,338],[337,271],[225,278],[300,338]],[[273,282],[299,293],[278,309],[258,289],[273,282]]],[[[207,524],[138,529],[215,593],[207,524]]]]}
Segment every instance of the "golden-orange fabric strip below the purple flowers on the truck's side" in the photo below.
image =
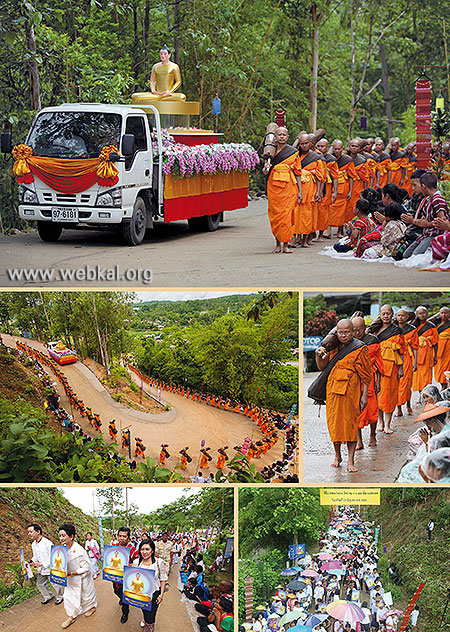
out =
{"type": "Polygon", "coordinates": [[[248,171],[230,171],[213,175],[199,174],[192,178],[175,178],[169,173],[164,182],[164,198],[173,200],[231,189],[248,189],[248,171]]]}

